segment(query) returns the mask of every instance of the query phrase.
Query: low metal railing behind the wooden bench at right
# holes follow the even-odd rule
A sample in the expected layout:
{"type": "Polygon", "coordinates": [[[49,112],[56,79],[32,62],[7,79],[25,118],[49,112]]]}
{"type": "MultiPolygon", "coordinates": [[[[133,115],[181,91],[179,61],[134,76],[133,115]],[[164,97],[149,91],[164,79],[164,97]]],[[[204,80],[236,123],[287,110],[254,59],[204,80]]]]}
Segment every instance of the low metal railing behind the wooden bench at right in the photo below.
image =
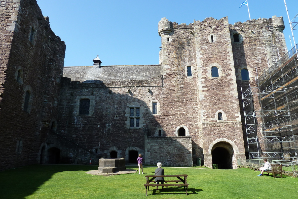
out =
{"type": "MultiPolygon", "coordinates": [[[[268,160],[270,164],[282,164],[283,175],[298,177],[298,161],[284,161],[284,160],[268,160]]],[[[251,169],[259,169],[264,166],[263,159],[238,159],[238,166],[248,167],[251,169]]]]}

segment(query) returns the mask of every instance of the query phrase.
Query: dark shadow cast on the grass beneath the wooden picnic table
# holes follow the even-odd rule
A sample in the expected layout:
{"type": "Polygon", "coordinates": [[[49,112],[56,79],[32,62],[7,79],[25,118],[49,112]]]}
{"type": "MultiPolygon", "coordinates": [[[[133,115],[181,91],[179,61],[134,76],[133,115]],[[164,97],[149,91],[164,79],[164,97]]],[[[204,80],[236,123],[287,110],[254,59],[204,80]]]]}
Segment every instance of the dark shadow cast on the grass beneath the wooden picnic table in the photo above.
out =
{"type": "MultiPolygon", "coordinates": [[[[202,189],[187,188],[187,195],[198,194],[198,192],[203,191],[202,189]]],[[[148,191],[148,194],[150,192],[148,191]]],[[[186,195],[184,187],[165,187],[164,189],[153,189],[151,195],[186,195]],[[180,192],[180,193],[177,193],[180,192]]]]}

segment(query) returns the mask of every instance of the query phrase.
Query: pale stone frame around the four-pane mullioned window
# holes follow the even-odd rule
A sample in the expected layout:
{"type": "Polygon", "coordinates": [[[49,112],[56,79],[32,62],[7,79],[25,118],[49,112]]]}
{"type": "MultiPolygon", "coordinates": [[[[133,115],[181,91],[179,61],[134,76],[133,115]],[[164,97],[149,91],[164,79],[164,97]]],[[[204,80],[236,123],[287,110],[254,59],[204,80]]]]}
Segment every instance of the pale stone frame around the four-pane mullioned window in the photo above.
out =
{"type": "MultiPolygon", "coordinates": [[[[151,107],[152,109],[152,107],[151,107]]],[[[158,110],[158,109],[157,109],[158,110]]],[[[126,105],[126,110],[125,110],[125,117],[127,118],[126,121],[125,121],[125,126],[126,128],[128,129],[140,129],[142,128],[143,126],[145,126],[145,121],[144,121],[144,118],[143,118],[143,114],[144,114],[144,106],[141,106],[138,102],[136,101],[132,101],[131,103],[127,103],[126,105]],[[135,120],[134,120],[134,127],[130,127],[130,119],[132,118],[130,116],[130,109],[131,108],[139,108],[140,109],[140,116],[138,116],[137,118],[140,119],[140,122],[139,122],[139,127],[135,127],[135,120]]],[[[152,111],[152,110],[151,110],[152,111]]],[[[135,117],[134,117],[135,118],[135,117]]]]}

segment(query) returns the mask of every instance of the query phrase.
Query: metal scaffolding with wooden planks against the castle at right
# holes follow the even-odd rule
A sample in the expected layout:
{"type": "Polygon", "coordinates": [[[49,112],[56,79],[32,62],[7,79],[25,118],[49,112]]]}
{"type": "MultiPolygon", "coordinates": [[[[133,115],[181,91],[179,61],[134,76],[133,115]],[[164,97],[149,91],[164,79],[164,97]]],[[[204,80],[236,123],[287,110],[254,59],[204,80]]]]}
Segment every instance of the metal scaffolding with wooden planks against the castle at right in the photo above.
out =
{"type": "Polygon", "coordinates": [[[297,159],[297,47],[264,71],[257,87],[241,88],[250,158],[297,159]]]}

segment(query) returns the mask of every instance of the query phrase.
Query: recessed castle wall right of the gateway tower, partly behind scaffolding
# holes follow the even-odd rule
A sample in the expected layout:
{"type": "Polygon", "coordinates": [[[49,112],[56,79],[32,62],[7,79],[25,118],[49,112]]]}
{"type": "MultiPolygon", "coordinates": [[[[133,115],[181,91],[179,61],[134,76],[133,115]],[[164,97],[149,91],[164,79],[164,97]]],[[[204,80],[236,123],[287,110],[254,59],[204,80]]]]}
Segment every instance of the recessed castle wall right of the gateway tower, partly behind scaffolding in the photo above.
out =
{"type": "MultiPolygon", "coordinates": [[[[242,91],[245,92],[249,87],[257,87],[257,76],[262,74],[264,70],[267,70],[268,67],[271,67],[272,64],[287,53],[285,38],[282,31],[284,26],[282,30],[280,27],[274,28],[275,23],[273,21],[277,21],[278,19],[280,18],[273,16],[272,19],[260,18],[257,20],[253,19],[252,21],[246,21],[244,23],[237,22],[234,25],[229,25],[246,152],[248,152],[248,148],[241,88],[242,91]],[[234,41],[233,34],[235,33],[240,34],[240,42],[234,41]],[[243,68],[246,68],[249,71],[249,80],[242,80],[241,69],[243,68]]],[[[254,97],[254,109],[260,110],[259,100],[257,96],[254,97]]],[[[253,124],[253,121],[247,121],[247,123],[249,122],[253,124]]],[[[257,123],[257,126],[262,123],[260,117],[257,117],[257,123]]],[[[254,136],[262,135],[261,132],[258,132],[258,135],[254,136]]],[[[264,144],[261,144],[260,147],[261,151],[265,151],[264,144]]],[[[258,151],[257,146],[252,144],[250,145],[250,150],[258,151]]]]}

